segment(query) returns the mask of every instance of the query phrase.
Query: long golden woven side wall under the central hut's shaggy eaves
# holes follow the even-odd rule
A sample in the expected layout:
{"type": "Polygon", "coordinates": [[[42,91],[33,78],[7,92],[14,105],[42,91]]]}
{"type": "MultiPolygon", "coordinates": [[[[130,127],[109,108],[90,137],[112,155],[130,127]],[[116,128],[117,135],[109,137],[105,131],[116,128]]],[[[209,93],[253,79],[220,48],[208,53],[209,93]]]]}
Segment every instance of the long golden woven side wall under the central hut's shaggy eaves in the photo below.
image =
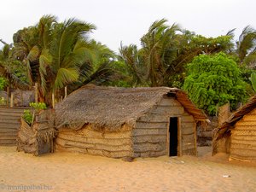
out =
{"type": "Polygon", "coordinates": [[[62,128],[55,139],[55,149],[112,158],[133,156],[131,129],[126,127],[125,131],[100,132],[93,131],[90,125],[79,131],[62,128]]]}

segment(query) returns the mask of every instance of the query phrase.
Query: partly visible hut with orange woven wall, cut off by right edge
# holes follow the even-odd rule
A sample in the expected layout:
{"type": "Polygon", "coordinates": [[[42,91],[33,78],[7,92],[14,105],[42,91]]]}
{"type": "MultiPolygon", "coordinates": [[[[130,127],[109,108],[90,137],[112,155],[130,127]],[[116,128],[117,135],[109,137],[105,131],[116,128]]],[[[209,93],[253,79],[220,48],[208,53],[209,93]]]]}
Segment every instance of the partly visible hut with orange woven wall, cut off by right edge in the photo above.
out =
{"type": "Polygon", "coordinates": [[[214,131],[212,154],[230,154],[231,159],[256,160],[256,96],[233,113],[214,131]]]}

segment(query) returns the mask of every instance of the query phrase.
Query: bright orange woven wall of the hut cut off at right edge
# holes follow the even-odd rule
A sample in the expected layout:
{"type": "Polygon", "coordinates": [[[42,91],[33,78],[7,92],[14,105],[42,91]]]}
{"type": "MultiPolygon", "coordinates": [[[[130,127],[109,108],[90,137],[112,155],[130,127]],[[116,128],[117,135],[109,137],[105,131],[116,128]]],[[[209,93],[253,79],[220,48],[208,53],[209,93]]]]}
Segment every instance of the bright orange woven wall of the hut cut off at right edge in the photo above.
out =
{"type": "Polygon", "coordinates": [[[230,157],[256,160],[256,108],[236,122],[231,131],[230,157]]]}

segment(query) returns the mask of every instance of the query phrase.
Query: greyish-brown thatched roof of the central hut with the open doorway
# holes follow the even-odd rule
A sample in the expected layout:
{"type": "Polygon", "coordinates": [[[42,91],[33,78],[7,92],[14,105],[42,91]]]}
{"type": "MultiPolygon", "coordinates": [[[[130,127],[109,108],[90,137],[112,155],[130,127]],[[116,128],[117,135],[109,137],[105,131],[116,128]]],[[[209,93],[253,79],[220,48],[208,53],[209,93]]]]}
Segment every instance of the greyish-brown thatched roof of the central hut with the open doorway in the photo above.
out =
{"type": "Polygon", "coordinates": [[[175,96],[196,120],[207,119],[207,116],[190,102],[187,94],[176,88],[85,85],[56,104],[56,124],[65,122],[73,129],[90,124],[97,130],[117,131],[122,125],[134,126],[137,119],[154,108],[164,95],[175,96]]]}

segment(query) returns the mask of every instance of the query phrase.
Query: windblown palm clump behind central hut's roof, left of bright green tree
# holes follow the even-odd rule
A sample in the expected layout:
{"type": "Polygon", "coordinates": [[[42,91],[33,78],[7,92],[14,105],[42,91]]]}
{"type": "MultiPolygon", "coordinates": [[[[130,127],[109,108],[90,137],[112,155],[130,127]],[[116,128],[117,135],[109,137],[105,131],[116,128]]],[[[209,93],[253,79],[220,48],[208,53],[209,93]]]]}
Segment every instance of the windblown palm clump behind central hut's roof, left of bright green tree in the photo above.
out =
{"type": "Polygon", "coordinates": [[[229,52],[233,47],[230,35],[205,38],[177,24],[167,26],[166,21],[154,21],[141,38],[142,49],[135,45],[119,49],[135,85],[181,87],[185,66],[196,55],[229,52]]]}

